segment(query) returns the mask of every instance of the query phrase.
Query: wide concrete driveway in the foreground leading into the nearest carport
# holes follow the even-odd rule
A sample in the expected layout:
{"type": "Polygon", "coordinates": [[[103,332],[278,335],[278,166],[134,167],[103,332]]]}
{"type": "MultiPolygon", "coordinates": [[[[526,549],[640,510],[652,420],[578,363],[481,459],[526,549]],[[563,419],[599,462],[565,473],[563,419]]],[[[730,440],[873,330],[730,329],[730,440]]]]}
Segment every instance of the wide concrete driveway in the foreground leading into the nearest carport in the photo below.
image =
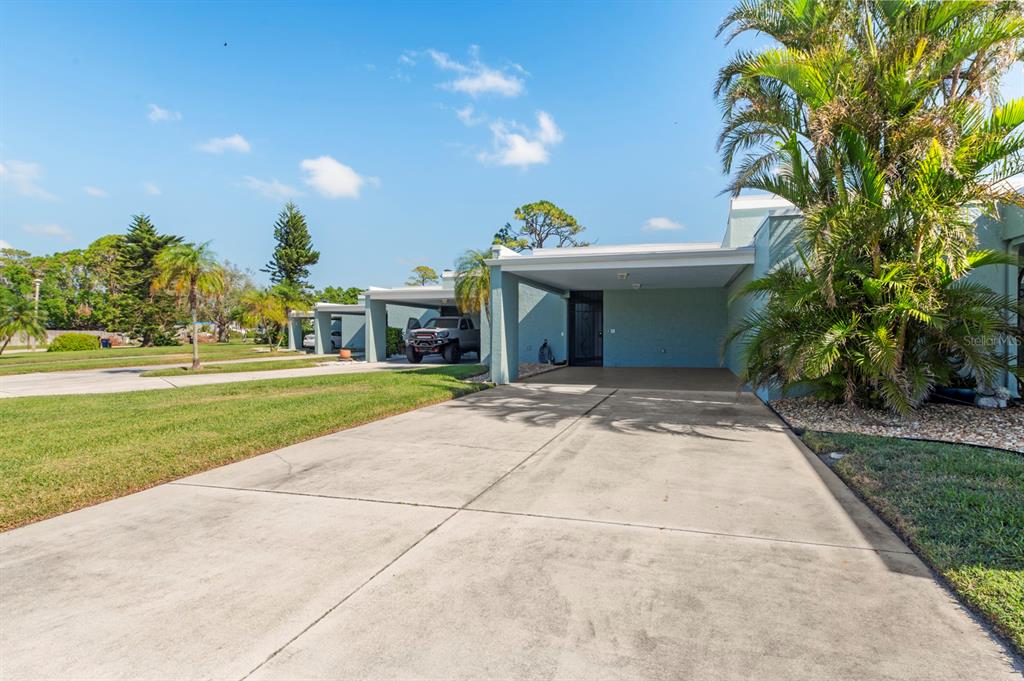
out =
{"type": "Polygon", "coordinates": [[[0,535],[0,677],[1020,678],[731,377],[674,376],[555,372],[0,535]]]}

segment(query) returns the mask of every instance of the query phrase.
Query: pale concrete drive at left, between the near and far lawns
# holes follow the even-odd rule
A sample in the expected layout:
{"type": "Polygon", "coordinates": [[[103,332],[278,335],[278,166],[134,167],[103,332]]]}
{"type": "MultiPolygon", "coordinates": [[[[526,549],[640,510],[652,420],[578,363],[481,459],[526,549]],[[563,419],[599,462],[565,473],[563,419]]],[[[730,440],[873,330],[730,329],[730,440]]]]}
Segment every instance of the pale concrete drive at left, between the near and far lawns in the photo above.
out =
{"type": "MultiPolygon", "coordinates": [[[[272,361],[275,359],[304,359],[309,355],[290,354],[280,357],[259,357],[254,359],[226,359],[204,361],[204,366],[230,365],[249,361],[272,361]]],[[[26,397],[30,395],[80,395],[104,392],[133,392],[135,390],[162,390],[185,388],[193,385],[214,383],[237,383],[272,378],[300,378],[303,376],[324,376],[330,374],[358,374],[377,371],[415,369],[416,367],[397,361],[338,361],[333,356],[325,356],[324,365],[301,369],[273,369],[268,371],[237,372],[233,374],[197,374],[195,376],[139,376],[142,372],[173,369],[184,365],[156,365],[152,367],[125,367],[117,369],[89,369],[77,372],[49,372],[18,374],[0,377],[0,397],[26,397]]]]}

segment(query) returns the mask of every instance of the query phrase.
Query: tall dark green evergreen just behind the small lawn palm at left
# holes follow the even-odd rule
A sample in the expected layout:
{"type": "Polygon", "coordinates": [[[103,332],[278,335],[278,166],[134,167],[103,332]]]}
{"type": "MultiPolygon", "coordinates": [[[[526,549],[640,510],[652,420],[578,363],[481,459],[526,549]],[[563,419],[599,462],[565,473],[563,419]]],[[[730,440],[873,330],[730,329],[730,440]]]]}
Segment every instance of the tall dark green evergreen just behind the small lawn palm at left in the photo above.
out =
{"type": "Polygon", "coordinates": [[[176,316],[174,298],[153,290],[157,254],[181,243],[180,237],[161,235],[148,215],[132,216],[131,226],[118,249],[115,324],[154,345],[167,338],[176,316]]]}

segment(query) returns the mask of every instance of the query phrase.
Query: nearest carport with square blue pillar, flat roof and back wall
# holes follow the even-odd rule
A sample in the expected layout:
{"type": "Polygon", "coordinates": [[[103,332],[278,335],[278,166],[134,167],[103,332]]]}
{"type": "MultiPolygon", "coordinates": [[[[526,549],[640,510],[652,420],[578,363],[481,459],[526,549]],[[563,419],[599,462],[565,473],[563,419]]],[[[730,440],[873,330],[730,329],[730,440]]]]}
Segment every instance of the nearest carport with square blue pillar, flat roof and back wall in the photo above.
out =
{"type": "MultiPolygon", "coordinates": [[[[566,358],[575,367],[722,366],[730,293],[755,265],[753,246],[651,244],[492,250],[490,375],[518,378],[520,285],[565,301],[566,358]]],[[[734,313],[741,313],[740,309],[734,313]]],[[[552,330],[552,336],[557,330],[552,330]]]]}

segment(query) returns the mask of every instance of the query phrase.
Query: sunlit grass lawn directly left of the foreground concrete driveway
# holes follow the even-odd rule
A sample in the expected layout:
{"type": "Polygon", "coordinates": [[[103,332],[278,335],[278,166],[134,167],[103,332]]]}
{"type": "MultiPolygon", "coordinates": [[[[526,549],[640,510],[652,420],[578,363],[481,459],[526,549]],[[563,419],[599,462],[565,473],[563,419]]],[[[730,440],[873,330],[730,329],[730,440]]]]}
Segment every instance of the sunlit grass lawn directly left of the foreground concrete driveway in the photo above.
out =
{"type": "Polygon", "coordinates": [[[0,529],[480,389],[479,365],[16,397],[0,407],[0,529]]]}

